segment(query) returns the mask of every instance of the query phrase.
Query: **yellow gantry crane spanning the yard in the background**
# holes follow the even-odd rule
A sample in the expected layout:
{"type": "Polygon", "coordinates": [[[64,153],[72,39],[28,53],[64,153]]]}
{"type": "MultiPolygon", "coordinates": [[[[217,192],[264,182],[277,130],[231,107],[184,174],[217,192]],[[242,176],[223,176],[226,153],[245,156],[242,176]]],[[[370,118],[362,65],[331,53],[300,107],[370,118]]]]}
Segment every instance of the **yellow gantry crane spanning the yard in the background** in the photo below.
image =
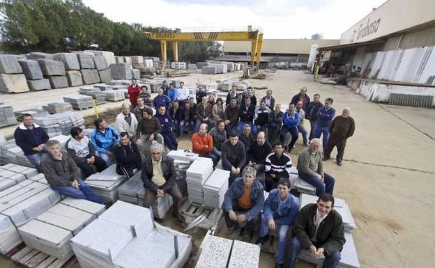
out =
{"type": "Polygon", "coordinates": [[[259,66],[261,60],[261,47],[263,45],[263,33],[261,30],[252,30],[247,26],[247,31],[192,31],[183,33],[144,33],[146,38],[160,40],[163,67],[167,61],[167,42],[172,42],[174,61],[178,61],[178,41],[247,41],[251,42],[251,63],[259,66]]]}

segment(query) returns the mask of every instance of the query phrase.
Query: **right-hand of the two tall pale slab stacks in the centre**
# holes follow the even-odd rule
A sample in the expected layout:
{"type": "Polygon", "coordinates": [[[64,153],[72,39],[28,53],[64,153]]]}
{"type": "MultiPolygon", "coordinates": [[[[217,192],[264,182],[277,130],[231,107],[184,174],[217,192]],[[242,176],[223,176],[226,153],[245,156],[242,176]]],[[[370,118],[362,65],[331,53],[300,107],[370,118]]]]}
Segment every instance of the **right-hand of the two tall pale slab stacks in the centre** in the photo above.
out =
{"type": "Polygon", "coordinates": [[[228,190],[229,171],[216,168],[204,183],[204,205],[220,209],[228,190]]]}

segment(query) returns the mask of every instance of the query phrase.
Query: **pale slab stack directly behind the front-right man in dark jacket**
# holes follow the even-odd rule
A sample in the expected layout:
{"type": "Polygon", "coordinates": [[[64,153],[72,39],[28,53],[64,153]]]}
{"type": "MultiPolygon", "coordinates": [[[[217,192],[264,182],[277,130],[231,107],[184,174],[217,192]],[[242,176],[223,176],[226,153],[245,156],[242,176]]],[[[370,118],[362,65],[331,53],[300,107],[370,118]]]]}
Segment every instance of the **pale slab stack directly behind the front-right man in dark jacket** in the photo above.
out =
{"type": "MultiPolygon", "coordinates": [[[[299,206],[300,209],[308,204],[315,204],[319,199],[317,196],[311,196],[309,194],[301,194],[299,206]]],[[[349,205],[346,203],[346,200],[341,198],[335,198],[334,210],[336,210],[341,216],[344,225],[344,232],[352,232],[353,229],[356,229],[356,223],[353,219],[351,209],[349,205]]]]}

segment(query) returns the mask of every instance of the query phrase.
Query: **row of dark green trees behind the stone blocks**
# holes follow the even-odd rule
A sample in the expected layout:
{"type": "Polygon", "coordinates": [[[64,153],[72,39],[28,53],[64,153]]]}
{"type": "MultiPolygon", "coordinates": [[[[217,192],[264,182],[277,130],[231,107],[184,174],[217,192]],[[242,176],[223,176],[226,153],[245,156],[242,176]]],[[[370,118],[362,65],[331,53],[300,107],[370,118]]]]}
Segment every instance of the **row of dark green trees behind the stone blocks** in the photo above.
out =
{"type": "MultiPolygon", "coordinates": [[[[96,49],[119,56],[160,56],[160,42],[145,38],[144,31],[175,30],[112,22],[81,0],[3,0],[0,31],[1,49],[14,54],[96,49]]],[[[218,42],[178,42],[179,61],[205,61],[220,51],[218,42]]],[[[172,59],[170,43],[167,55],[172,59]]]]}

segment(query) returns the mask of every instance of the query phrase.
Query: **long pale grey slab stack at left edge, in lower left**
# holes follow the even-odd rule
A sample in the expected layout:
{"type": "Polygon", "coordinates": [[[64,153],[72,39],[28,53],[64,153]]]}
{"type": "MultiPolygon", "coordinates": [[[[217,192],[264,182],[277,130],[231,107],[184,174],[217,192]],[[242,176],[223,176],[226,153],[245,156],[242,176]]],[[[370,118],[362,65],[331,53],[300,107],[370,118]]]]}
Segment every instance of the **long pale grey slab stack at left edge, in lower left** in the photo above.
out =
{"type": "Polygon", "coordinates": [[[22,243],[17,228],[59,203],[61,196],[47,184],[24,180],[0,191],[0,253],[22,243]]]}

